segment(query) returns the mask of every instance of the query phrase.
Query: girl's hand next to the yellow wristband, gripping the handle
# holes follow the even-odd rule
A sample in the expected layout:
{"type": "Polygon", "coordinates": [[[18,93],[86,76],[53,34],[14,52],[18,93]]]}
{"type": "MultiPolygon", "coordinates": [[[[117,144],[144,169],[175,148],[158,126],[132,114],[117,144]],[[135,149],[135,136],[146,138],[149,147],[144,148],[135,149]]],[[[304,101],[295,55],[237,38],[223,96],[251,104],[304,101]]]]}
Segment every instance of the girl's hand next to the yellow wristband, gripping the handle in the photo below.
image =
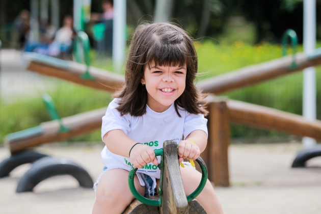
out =
{"type": "Polygon", "coordinates": [[[183,158],[195,161],[201,154],[200,148],[192,141],[181,141],[178,144],[178,162],[182,162],[183,158]]]}

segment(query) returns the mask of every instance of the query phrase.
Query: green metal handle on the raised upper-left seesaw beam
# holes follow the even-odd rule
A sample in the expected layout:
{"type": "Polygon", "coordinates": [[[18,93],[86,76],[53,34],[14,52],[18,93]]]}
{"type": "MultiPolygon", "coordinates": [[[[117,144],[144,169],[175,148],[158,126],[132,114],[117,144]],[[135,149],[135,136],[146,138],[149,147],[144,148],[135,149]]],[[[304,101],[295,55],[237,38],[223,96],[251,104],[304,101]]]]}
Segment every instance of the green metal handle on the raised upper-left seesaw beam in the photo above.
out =
{"type": "Polygon", "coordinates": [[[94,79],[89,73],[89,66],[90,66],[90,58],[89,58],[89,50],[90,50],[90,44],[89,44],[89,38],[88,35],[83,32],[79,31],[77,33],[76,39],[75,39],[75,55],[76,55],[76,61],[78,63],[82,63],[83,61],[86,64],[86,72],[81,75],[84,79],[94,79]],[[80,43],[79,43],[80,42],[80,43]],[[79,45],[83,45],[83,51],[79,50],[79,45]],[[83,60],[82,60],[83,58],[83,60]]]}

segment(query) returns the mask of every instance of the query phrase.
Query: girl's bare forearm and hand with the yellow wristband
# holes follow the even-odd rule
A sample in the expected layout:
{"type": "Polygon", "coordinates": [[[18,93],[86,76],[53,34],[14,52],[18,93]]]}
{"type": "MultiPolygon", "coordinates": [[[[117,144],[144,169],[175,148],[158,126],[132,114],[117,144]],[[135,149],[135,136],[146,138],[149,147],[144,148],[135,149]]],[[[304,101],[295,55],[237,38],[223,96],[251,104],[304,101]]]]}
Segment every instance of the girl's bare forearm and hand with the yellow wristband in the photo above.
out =
{"type": "Polygon", "coordinates": [[[205,131],[194,130],[190,135],[178,144],[179,162],[183,161],[183,158],[197,159],[201,152],[205,150],[207,144],[207,135],[205,131]],[[195,142],[195,143],[194,143],[195,142]]]}

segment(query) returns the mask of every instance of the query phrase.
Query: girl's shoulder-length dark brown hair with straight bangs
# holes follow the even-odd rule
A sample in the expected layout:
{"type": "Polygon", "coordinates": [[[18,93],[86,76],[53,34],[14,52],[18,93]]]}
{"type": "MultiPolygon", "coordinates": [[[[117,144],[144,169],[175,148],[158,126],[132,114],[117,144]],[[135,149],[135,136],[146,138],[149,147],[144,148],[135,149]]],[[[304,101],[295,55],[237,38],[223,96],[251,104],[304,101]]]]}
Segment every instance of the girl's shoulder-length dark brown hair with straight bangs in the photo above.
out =
{"type": "Polygon", "coordinates": [[[141,84],[144,68],[155,66],[183,66],[186,64],[185,90],[175,102],[190,114],[204,114],[205,96],[193,81],[197,74],[197,54],[192,39],[184,30],[170,23],[144,23],[138,26],[129,48],[125,71],[125,85],[114,94],[121,115],[142,116],[146,113],[147,90],[141,84]]]}

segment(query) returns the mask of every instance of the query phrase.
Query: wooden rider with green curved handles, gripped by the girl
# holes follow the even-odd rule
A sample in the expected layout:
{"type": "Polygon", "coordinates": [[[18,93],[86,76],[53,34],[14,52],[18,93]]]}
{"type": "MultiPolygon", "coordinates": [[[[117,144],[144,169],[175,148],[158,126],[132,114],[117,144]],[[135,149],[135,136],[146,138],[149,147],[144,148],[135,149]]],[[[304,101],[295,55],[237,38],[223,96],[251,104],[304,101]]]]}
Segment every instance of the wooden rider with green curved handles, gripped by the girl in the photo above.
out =
{"type": "Polygon", "coordinates": [[[191,195],[186,197],[177,159],[176,141],[165,141],[163,149],[156,149],[155,154],[162,156],[162,161],[158,165],[161,170],[161,183],[157,189],[158,196],[150,199],[137,192],[133,179],[137,168],[132,168],[128,175],[128,184],[136,199],[131,202],[123,214],[205,214],[206,211],[195,199],[202,192],[207,181],[207,169],[202,158],[199,157],[196,160],[202,170],[200,184],[191,195]]]}

